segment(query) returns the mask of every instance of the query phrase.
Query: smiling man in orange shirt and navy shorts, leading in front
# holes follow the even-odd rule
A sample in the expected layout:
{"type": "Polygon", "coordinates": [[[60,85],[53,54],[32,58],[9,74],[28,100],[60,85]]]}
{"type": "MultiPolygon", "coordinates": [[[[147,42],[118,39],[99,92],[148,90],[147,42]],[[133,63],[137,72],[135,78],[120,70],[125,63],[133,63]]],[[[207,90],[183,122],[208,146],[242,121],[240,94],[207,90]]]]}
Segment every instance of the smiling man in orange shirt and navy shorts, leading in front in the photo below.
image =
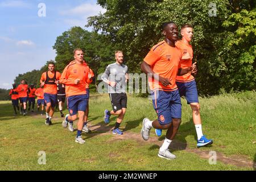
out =
{"type": "Polygon", "coordinates": [[[180,68],[181,52],[175,47],[178,37],[178,28],[174,22],[163,24],[163,35],[165,39],[151,48],[141,69],[148,76],[148,84],[152,90],[152,102],[158,119],[150,121],[143,119],[141,135],[144,140],[148,140],[150,129],[167,130],[166,138],[159,148],[158,156],[165,159],[175,159],[168,147],[179,129],[181,123],[181,101],[179,91],[176,86],[176,76],[184,75],[190,71],[195,71],[196,67],[187,69],[180,68]]]}

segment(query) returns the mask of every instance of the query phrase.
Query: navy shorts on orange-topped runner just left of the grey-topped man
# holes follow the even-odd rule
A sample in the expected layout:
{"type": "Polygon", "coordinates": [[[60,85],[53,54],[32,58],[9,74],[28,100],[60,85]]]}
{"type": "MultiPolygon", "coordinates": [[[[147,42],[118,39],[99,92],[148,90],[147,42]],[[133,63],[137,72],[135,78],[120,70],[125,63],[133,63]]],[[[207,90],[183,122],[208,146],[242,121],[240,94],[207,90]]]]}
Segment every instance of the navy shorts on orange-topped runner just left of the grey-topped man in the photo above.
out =
{"type": "Polygon", "coordinates": [[[68,111],[70,115],[76,115],[77,112],[85,111],[88,104],[86,94],[67,97],[68,111]]]}

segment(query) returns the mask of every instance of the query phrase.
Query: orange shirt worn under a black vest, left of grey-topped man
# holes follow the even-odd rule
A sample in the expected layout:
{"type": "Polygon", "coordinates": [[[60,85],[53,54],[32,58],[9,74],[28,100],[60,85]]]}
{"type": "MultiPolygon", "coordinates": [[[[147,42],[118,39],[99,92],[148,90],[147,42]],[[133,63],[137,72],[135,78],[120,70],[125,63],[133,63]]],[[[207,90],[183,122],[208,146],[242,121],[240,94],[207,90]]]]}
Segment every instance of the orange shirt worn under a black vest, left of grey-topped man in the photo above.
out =
{"type": "MultiPolygon", "coordinates": [[[[54,72],[52,73],[51,71],[48,71],[48,76],[49,78],[53,78],[54,77],[54,72]]],[[[56,81],[60,80],[60,72],[56,71],[56,81]]],[[[41,76],[41,80],[42,81],[46,81],[46,72],[44,72],[41,76]]],[[[57,94],[57,85],[51,85],[51,84],[44,84],[44,93],[48,93],[48,94],[57,94]]]]}

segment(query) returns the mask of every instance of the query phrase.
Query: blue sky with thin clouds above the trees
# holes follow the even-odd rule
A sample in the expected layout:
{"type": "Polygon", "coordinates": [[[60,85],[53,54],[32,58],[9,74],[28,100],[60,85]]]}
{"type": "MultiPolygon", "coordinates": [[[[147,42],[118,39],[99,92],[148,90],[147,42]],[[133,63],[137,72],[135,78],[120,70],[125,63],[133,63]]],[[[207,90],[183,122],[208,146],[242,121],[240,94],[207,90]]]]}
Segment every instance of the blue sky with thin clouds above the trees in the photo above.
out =
{"type": "MultiPolygon", "coordinates": [[[[96,0],[0,0],[0,88],[10,89],[16,76],[55,59],[57,36],[87,18],[104,13],[96,0]],[[39,3],[46,6],[40,17],[39,3]]],[[[91,28],[85,28],[91,30],[91,28]]]]}

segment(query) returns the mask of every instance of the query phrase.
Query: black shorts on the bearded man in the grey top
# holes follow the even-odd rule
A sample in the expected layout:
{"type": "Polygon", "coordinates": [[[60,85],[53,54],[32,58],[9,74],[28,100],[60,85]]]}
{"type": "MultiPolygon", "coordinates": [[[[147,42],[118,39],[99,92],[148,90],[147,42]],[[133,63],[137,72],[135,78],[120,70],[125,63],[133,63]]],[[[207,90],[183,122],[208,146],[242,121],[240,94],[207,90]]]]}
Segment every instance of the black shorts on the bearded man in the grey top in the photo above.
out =
{"type": "Polygon", "coordinates": [[[126,93],[110,93],[110,101],[114,112],[127,108],[127,96],[126,93]]]}

